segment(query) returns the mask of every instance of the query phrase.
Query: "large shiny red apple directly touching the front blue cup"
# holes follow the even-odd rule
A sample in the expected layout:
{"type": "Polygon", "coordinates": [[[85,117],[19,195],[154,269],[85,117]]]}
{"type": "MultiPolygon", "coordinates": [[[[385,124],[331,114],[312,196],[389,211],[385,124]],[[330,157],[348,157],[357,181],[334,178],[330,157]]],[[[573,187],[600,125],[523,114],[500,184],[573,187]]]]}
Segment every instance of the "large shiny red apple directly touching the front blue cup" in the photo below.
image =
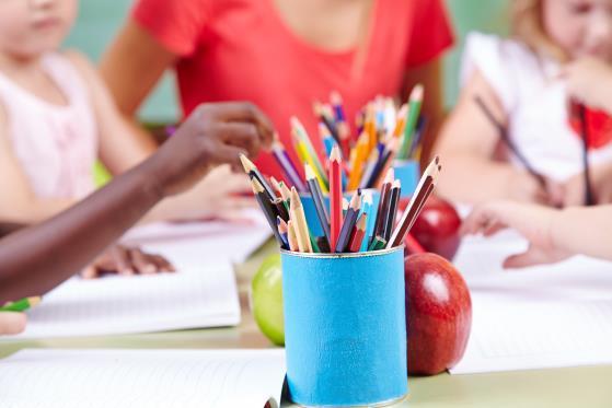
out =
{"type": "Polygon", "coordinates": [[[432,375],[461,360],[472,327],[472,300],[461,273],[436,254],[404,260],[407,365],[409,374],[432,375]]]}

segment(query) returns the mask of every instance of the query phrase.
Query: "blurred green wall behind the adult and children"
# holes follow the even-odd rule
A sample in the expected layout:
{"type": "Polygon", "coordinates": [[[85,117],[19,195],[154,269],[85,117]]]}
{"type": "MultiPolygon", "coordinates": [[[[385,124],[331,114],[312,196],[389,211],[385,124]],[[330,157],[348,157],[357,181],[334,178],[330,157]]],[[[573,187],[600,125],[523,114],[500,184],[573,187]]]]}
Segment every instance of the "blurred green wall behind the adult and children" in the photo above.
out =
{"type": "MultiPolygon", "coordinates": [[[[458,35],[458,47],[444,60],[446,103],[447,106],[452,106],[459,91],[458,67],[465,34],[473,30],[507,33],[506,9],[509,0],[446,1],[458,35]]],[[[97,61],[105,46],[119,30],[131,3],[130,0],[81,1],[77,24],[67,38],[66,46],[77,48],[97,61]]],[[[142,107],[140,117],[153,123],[172,121],[178,117],[171,74],[163,79],[142,107]]]]}

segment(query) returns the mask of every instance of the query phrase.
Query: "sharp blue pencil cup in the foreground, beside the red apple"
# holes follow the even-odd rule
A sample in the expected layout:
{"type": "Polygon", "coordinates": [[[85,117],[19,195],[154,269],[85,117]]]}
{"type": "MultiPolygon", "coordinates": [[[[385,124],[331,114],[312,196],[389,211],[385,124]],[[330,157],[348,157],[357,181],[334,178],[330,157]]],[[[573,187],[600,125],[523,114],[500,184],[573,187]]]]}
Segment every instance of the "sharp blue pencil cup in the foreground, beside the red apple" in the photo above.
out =
{"type": "Polygon", "coordinates": [[[281,252],[287,385],[307,407],[391,404],[408,392],[404,248],[281,252]]]}

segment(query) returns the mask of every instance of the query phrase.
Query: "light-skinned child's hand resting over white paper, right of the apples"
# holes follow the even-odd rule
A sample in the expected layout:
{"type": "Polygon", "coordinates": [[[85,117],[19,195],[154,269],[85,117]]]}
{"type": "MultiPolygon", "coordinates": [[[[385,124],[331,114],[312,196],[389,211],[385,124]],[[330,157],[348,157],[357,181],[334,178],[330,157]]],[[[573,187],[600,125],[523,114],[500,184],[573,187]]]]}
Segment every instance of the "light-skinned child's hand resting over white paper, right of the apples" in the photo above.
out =
{"type": "Polygon", "coordinates": [[[535,205],[494,201],[476,207],[464,220],[461,233],[483,233],[489,236],[499,230],[511,228],[523,235],[530,245],[526,253],[508,257],[504,261],[505,268],[552,264],[570,255],[554,246],[551,223],[555,211],[557,210],[535,205]]]}

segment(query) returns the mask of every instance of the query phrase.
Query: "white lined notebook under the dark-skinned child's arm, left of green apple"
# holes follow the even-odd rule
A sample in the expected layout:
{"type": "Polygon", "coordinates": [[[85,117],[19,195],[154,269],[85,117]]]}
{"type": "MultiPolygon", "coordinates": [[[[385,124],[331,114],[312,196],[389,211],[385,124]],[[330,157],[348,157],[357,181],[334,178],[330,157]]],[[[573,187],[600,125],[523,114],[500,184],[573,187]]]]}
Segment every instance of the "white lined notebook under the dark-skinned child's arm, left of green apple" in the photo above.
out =
{"type": "Polygon", "coordinates": [[[183,265],[175,273],[72,278],[28,312],[23,334],[5,338],[117,335],[239,323],[232,266],[200,261],[199,266],[183,265]]]}

